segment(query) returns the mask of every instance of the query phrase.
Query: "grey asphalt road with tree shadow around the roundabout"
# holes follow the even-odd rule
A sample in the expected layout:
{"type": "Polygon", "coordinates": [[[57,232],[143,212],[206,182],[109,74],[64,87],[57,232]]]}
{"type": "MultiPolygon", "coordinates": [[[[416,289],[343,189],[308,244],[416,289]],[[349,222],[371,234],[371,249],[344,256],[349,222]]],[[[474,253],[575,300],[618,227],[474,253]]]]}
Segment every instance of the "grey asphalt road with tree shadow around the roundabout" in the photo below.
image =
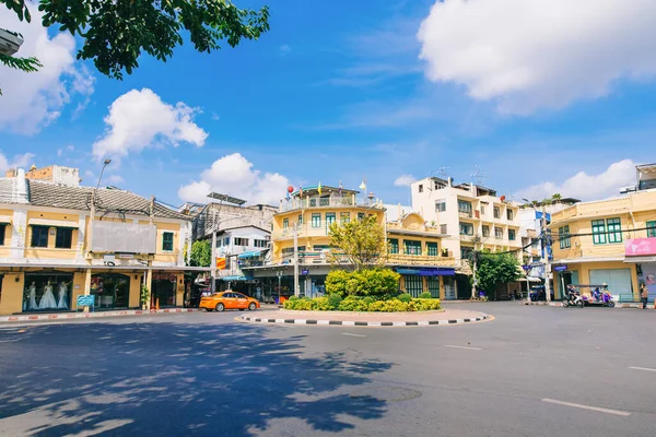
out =
{"type": "Polygon", "coordinates": [[[496,319],[0,326],[0,435],[656,435],[656,311],[454,307],[496,319]]]}

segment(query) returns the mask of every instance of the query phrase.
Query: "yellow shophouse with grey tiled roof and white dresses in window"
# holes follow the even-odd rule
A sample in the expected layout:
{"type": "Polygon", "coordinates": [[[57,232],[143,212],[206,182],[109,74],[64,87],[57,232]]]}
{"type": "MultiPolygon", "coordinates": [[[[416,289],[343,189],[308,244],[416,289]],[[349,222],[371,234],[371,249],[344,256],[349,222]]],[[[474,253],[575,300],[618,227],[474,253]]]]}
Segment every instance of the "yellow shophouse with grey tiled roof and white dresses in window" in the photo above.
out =
{"type": "Polygon", "coordinates": [[[142,284],[152,303],[183,306],[188,216],[129,191],[9,176],[0,178],[0,315],[75,310],[81,295],[94,296],[95,310],[138,308],[142,284]]]}

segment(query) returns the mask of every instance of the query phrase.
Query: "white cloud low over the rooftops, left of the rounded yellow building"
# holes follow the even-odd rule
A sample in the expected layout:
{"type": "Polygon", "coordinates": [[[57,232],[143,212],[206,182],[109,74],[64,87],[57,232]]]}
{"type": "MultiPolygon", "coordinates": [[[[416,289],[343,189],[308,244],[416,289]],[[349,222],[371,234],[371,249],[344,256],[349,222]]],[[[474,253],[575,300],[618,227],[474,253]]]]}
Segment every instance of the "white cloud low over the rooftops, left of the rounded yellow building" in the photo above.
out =
{"type": "Polygon", "coordinates": [[[286,193],[290,181],[278,173],[253,168],[239,153],[223,156],[203,170],[200,179],[180,187],[178,197],[187,202],[208,202],[211,191],[242,198],[248,203],[277,204],[286,193]]]}

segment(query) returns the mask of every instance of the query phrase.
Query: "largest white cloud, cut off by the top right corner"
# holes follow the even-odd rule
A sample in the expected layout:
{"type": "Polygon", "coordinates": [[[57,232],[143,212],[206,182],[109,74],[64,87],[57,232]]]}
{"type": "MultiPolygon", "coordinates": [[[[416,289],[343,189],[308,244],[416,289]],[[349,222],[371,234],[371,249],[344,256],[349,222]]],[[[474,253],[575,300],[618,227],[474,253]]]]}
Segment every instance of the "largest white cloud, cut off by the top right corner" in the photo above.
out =
{"type": "Polygon", "coordinates": [[[419,28],[426,76],[511,114],[608,95],[656,75],[653,0],[445,0],[419,28]]]}

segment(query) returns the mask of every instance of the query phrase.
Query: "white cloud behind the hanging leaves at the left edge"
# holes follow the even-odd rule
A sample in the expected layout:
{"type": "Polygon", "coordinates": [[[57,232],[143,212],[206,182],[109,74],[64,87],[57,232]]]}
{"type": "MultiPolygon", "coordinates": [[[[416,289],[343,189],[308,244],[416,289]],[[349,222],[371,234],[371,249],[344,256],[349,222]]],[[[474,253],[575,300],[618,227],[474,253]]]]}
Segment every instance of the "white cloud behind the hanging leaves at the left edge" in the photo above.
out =
{"type": "Polygon", "coordinates": [[[94,78],[75,62],[75,39],[69,34],[48,36],[43,13],[27,3],[32,23],[21,22],[13,11],[0,9],[0,28],[19,32],[24,43],[15,56],[35,56],[44,66],[25,73],[0,64],[0,130],[35,134],[56,120],[75,96],[89,102],[94,78]]]}

